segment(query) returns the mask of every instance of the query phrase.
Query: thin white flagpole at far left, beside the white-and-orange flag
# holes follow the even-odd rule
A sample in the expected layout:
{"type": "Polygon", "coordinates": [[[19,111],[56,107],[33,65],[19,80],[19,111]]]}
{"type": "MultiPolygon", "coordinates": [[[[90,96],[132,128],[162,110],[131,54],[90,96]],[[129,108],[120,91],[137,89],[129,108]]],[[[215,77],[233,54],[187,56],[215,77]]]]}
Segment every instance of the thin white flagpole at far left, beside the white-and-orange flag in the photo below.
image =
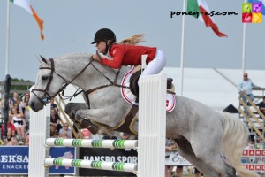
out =
{"type": "Polygon", "coordinates": [[[10,40],[10,3],[7,0],[6,12],[6,51],[5,51],[5,75],[9,73],[9,40],[10,40]]]}

